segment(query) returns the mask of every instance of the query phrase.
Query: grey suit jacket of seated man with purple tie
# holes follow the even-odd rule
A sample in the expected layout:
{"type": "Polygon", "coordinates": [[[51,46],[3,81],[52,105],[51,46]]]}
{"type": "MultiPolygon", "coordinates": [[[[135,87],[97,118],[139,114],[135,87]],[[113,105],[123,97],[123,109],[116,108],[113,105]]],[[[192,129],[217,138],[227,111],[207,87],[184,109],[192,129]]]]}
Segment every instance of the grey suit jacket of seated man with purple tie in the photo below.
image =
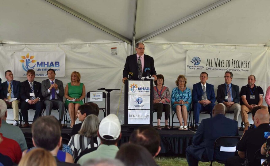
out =
{"type": "MultiPolygon", "coordinates": [[[[56,93],[57,99],[63,101],[63,96],[64,96],[63,82],[60,81],[60,80],[55,79],[55,84],[58,85],[58,89],[59,89],[59,94],[56,93]]],[[[49,79],[43,80],[41,82],[41,92],[42,92],[43,100],[49,100],[50,99],[51,93],[48,93],[48,89],[50,88],[50,86],[51,86],[51,82],[50,82],[49,79]]]]}

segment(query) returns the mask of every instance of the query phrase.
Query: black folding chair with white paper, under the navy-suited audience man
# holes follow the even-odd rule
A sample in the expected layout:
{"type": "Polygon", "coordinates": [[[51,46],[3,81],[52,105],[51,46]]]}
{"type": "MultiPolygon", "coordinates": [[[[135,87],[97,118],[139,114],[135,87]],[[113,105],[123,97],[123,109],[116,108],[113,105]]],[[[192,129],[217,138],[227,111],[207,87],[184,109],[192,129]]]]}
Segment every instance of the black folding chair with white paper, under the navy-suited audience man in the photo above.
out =
{"type": "Polygon", "coordinates": [[[226,160],[218,160],[216,158],[217,149],[219,149],[219,152],[223,152],[222,155],[226,155],[226,157],[233,157],[236,152],[236,145],[239,142],[241,137],[234,137],[234,136],[228,136],[228,137],[219,137],[215,141],[214,145],[214,156],[213,160],[211,161],[210,166],[212,166],[213,162],[216,161],[221,164],[225,164],[226,160]]]}

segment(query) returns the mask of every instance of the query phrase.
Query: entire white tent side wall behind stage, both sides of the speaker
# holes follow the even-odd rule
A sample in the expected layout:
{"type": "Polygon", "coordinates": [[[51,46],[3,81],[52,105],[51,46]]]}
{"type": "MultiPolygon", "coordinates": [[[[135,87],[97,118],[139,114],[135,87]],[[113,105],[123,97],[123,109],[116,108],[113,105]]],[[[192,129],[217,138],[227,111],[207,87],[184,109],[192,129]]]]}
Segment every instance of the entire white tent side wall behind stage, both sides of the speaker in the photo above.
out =
{"type": "MultiPolygon", "coordinates": [[[[252,54],[252,74],[256,76],[256,85],[261,86],[266,92],[269,82],[268,73],[268,47],[249,47],[249,46],[228,46],[228,45],[205,45],[205,44],[181,44],[181,43],[150,43],[145,42],[145,54],[154,58],[157,74],[163,74],[165,77],[165,86],[170,91],[175,85],[179,74],[185,74],[186,50],[207,50],[207,51],[230,51],[247,52],[252,54]]],[[[98,88],[116,88],[122,89],[122,70],[125,64],[125,58],[131,55],[131,47],[125,42],[119,43],[95,43],[95,44],[35,44],[35,45],[11,45],[4,44],[0,47],[0,56],[2,57],[0,77],[5,81],[4,71],[13,70],[13,51],[66,51],[66,77],[58,78],[63,81],[64,86],[70,82],[72,71],[78,71],[81,74],[81,82],[86,86],[86,92],[96,91],[98,88]],[[117,47],[118,55],[111,55],[110,48],[117,47]]],[[[207,70],[205,70],[207,72],[207,70]]],[[[199,82],[198,77],[187,76],[187,87],[192,90],[192,85],[199,82]]],[[[57,77],[57,72],[56,72],[57,77]]],[[[14,78],[18,81],[25,81],[26,78],[14,78]]],[[[36,77],[35,80],[41,82],[45,77],[36,77]]],[[[223,75],[221,77],[211,77],[207,81],[214,85],[215,92],[217,86],[224,83],[223,75]]],[[[233,84],[240,88],[247,84],[247,79],[233,78],[233,84]]],[[[116,114],[121,91],[111,92],[111,113],[116,114]]],[[[264,105],[266,105],[264,101],[264,105]]],[[[122,92],[118,117],[123,122],[124,91],[122,92]]],[[[8,112],[9,119],[13,117],[12,111],[8,112]]],[[[52,113],[58,117],[58,113],[52,113]]],[[[33,119],[33,112],[29,114],[33,119]]],[[[100,113],[100,119],[103,113],[100,113]]],[[[233,115],[226,115],[233,119],[233,115]]],[[[201,115],[200,120],[209,117],[201,115]]],[[[154,114],[156,121],[156,114],[154,114]]],[[[252,122],[250,117],[250,122],[252,122]]],[[[164,115],[162,117],[164,122],[164,115]]],[[[174,122],[177,122],[176,116],[174,122]]],[[[239,124],[241,116],[239,116],[239,124]]],[[[177,126],[177,125],[175,125],[177,126]]]]}

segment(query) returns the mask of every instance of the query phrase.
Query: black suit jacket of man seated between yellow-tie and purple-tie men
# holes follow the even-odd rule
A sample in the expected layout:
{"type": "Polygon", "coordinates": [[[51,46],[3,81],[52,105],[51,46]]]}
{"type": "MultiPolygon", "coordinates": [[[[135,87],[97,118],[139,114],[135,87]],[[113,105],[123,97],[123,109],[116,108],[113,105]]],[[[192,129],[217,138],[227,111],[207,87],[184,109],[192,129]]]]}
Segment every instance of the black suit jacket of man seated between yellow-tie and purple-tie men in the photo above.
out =
{"type": "MultiPolygon", "coordinates": [[[[42,100],[41,83],[34,81],[33,86],[34,86],[35,97],[36,98],[39,97],[40,100],[42,100]]],[[[28,80],[23,81],[21,83],[21,92],[20,92],[21,100],[25,101],[26,99],[31,99],[30,93],[31,93],[31,88],[30,88],[28,80]]]]}

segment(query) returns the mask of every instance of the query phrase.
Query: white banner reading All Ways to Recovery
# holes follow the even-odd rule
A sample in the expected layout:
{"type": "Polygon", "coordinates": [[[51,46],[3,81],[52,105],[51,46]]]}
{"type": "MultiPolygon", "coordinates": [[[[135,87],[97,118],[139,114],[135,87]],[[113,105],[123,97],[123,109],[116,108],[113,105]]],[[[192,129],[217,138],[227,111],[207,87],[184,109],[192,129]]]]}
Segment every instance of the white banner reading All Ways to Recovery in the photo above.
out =
{"type": "Polygon", "coordinates": [[[226,71],[234,78],[247,78],[251,74],[251,53],[187,50],[186,75],[223,77],[226,71]]]}

